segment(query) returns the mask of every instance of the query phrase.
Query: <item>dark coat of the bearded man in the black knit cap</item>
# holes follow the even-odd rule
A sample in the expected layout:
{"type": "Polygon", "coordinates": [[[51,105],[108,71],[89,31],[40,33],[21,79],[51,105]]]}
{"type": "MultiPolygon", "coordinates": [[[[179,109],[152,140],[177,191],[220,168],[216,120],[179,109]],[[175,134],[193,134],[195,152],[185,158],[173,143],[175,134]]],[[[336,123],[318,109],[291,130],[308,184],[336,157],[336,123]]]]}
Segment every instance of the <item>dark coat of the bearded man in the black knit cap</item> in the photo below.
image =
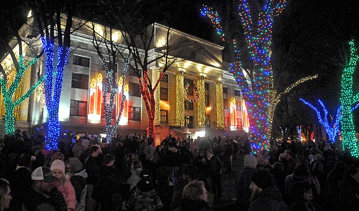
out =
{"type": "Polygon", "coordinates": [[[289,211],[277,186],[269,186],[252,199],[249,211],[289,211]]]}

